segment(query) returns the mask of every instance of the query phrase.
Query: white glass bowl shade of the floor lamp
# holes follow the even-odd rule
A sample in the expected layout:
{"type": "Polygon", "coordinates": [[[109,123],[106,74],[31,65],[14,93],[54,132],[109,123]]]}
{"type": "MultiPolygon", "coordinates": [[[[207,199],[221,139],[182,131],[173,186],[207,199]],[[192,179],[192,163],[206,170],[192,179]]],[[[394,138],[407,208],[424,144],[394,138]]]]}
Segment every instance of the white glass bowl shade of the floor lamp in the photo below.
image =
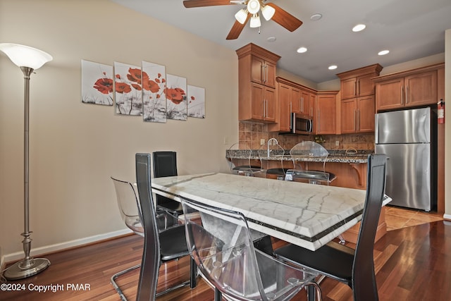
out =
{"type": "Polygon", "coordinates": [[[47,52],[20,44],[0,43],[0,50],[18,67],[29,67],[34,70],[53,59],[47,52]]]}

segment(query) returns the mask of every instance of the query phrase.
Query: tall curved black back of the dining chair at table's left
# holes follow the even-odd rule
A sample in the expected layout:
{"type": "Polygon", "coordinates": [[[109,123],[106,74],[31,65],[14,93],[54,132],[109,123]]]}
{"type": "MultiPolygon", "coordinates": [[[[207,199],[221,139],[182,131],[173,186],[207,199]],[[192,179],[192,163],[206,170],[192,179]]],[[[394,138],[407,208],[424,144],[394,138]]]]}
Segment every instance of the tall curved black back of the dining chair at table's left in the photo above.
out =
{"type": "Polygon", "coordinates": [[[150,154],[136,154],[136,182],[144,227],[144,250],[136,300],[154,300],[160,266],[160,241],[152,199],[150,154]]]}

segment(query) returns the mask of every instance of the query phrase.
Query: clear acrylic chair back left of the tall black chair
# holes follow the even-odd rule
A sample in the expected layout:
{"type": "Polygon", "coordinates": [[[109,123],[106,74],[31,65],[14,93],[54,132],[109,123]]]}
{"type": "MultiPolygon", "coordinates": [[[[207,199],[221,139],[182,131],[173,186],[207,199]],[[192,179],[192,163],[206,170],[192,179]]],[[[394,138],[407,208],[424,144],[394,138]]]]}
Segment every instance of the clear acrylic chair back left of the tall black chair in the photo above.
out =
{"type": "Polygon", "coordinates": [[[142,219],[140,217],[140,204],[135,188],[130,182],[118,180],[113,177],[111,177],[111,180],[113,180],[119,211],[121,212],[125,226],[128,226],[133,232],[144,236],[144,228],[142,228],[142,219]]]}

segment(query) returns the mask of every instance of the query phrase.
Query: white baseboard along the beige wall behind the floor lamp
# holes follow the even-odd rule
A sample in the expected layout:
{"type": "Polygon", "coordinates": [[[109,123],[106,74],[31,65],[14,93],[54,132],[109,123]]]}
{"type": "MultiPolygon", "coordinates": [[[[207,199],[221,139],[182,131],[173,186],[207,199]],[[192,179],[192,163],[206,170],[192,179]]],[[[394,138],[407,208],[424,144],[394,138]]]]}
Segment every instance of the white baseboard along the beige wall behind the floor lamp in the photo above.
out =
{"type": "MultiPolygon", "coordinates": [[[[109,238],[114,238],[116,236],[125,235],[128,233],[132,233],[132,231],[130,229],[123,229],[123,230],[119,230],[119,231],[89,236],[87,238],[80,238],[78,240],[70,240],[68,242],[61,242],[61,243],[57,243],[55,245],[47,245],[44,247],[36,247],[36,248],[32,247],[30,256],[38,257],[39,254],[48,254],[51,252],[65,250],[70,247],[78,247],[81,245],[86,245],[88,243],[97,242],[99,240],[105,240],[105,239],[109,239],[109,238]]],[[[14,262],[18,259],[23,259],[24,256],[25,255],[23,254],[23,252],[14,252],[11,254],[6,254],[6,255],[4,255],[4,262],[14,262]]]]}

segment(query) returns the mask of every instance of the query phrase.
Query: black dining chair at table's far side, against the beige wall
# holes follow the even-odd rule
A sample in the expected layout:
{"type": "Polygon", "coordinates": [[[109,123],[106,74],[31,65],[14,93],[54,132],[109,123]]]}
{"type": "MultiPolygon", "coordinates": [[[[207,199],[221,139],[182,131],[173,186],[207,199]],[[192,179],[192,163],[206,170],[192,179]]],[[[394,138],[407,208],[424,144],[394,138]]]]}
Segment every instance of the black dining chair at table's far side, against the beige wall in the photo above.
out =
{"type": "MultiPolygon", "coordinates": [[[[177,153],[176,152],[153,152],[154,177],[177,176],[177,153]]],[[[183,214],[182,204],[163,195],[156,195],[156,208],[166,210],[173,216],[183,214]]]]}

